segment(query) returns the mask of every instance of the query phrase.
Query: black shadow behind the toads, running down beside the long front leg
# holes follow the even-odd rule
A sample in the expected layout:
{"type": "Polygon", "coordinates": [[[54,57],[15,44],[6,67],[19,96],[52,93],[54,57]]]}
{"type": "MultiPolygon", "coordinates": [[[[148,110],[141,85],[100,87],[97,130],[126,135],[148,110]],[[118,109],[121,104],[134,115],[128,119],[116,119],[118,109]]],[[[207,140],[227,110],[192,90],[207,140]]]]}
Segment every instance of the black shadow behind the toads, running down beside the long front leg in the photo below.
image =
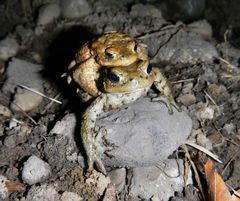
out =
{"type": "MultiPolygon", "coordinates": [[[[81,149],[81,115],[86,109],[86,105],[81,102],[76,94],[76,86],[73,84],[67,84],[67,79],[62,78],[61,75],[67,71],[69,63],[74,59],[76,51],[85,42],[94,38],[95,35],[90,33],[84,27],[71,27],[67,30],[60,32],[59,35],[52,41],[49,47],[48,57],[46,60],[46,69],[43,75],[48,78],[48,80],[54,82],[59,91],[65,97],[66,103],[63,105],[63,111],[70,109],[77,116],[77,126],[75,129],[75,141],[79,149],[81,149]]],[[[61,112],[60,115],[64,115],[61,112]]],[[[58,116],[57,119],[62,118],[58,116]]],[[[82,150],[80,150],[84,153],[82,150]]]]}

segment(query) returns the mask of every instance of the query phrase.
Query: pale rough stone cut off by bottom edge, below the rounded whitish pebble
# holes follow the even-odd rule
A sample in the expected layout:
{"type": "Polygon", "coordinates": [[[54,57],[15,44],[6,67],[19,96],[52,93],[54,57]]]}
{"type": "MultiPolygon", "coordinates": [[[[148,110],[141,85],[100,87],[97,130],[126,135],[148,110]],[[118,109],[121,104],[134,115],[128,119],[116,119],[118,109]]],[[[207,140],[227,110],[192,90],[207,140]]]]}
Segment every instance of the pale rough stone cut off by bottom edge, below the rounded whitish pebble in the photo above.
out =
{"type": "Polygon", "coordinates": [[[52,185],[33,186],[27,197],[20,201],[59,201],[60,196],[52,185]]]}

